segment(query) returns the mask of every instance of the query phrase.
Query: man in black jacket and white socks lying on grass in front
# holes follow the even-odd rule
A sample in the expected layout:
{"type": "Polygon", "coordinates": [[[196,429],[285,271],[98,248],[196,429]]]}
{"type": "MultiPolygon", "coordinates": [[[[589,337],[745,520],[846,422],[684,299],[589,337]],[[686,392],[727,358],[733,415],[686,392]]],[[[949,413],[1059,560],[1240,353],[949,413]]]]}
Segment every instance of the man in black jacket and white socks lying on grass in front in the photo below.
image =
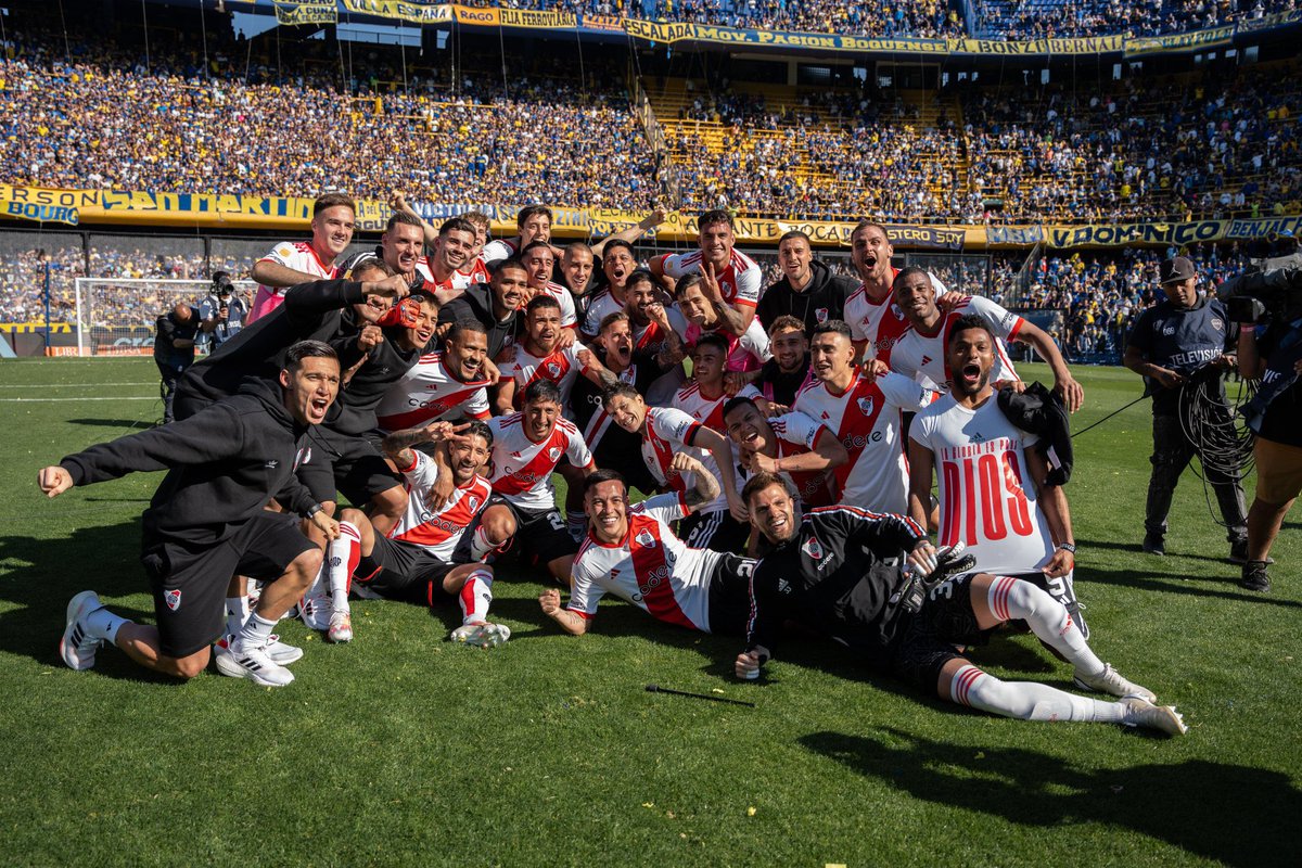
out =
{"type": "Polygon", "coordinates": [[[1174,707],[1156,705],[1151,690],[1099,660],[1066,608],[1030,582],[988,573],[954,575],[963,565],[950,549],[937,556],[926,532],[901,515],[853,506],[801,515],[786,481],[773,474],[753,476],[742,497],[767,550],[750,582],[747,644],[734,664],[738,678],[759,675],[783,623],[794,619],[915,687],[993,714],[1186,731],[1174,707]],[[907,563],[902,570],[901,560],[907,563]],[[1017,618],[1075,666],[1077,687],[1121,701],[1000,681],[958,652],[983,644],[996,627],[1017,618]]]}

